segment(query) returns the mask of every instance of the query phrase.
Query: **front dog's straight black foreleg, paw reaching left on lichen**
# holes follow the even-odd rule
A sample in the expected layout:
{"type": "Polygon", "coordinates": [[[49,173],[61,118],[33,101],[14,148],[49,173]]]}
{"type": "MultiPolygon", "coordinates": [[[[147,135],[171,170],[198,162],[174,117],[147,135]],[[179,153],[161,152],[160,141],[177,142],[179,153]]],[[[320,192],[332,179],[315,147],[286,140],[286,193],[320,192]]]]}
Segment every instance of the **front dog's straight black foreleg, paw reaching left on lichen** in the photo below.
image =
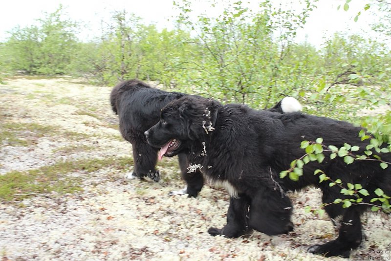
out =
{"type": "Polygon", "coordinates": [[[221,229],[216,227],[209,228],[209,234],[212,236],[221,235],[227,238],[237,238],[249,231],[247,214],[250,199],[245,195],[239,196],[239,198],[231,197],[227,213],[227,224],[221,229]]]}

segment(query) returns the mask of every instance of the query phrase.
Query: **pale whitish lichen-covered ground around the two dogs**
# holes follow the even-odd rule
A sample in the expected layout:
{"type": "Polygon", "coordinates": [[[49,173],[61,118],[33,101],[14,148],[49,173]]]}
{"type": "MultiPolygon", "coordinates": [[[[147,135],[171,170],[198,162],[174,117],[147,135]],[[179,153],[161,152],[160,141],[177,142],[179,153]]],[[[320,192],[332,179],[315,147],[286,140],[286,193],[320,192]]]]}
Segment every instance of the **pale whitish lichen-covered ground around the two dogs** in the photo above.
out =
{"type": "MultiPolygon", "coordinates": [[[[117,117],[109,106],[109,92],[109,87],[89,86],[70,78],[6,81],[0,86],[0,117],[7,123],[54,126],[57,134],[36,137],[28,146],[1,144],[0,174],[63,160],[129,156],[130,144],[121,140],[115,125],[113,128],[117,117]]],[[[28,133],[22,138],[29,139],[28,133]]],[[[52,198],[34,196],[18,203],[1,202],[0,258],[343,260],[306,253],[310,245],[336,235],[326,216],[304,213],[306,205],[319,206],[319,191],[309,189],[291,195],[295,230],[289,236],[268,237],[257,232],[239,239],[211,237],[207,233],[210,226],[225,224],[227,193],[205,186],[198,198],[170,197],[169,191],[183,187],[176,161],[165,159],[159,168],[163,172],[159,184],[126,180],[122,170],[101,168],[68,174],[83,178],[81,193],[48,193],[52,198]]],[[[364,217],[363,226],[367,240],[352,253],[351,260],[381,255],[374,250],[383,250],[383,258],[390,258],[390,217],[370,213],[364,217]]]]}

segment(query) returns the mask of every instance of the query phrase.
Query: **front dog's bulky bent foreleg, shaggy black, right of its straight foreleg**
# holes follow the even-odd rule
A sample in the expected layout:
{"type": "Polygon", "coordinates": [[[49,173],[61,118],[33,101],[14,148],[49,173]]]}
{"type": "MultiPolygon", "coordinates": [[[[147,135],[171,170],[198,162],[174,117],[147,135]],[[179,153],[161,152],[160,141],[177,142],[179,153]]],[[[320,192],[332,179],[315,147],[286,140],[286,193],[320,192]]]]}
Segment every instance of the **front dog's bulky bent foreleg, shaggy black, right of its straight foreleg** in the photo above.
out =
{"type": "Polygon", "coordinates": [[[290,221],[292,202],[279,190],[260,188],[251,196],[249,227],[267,235],[288,234],[293,230],[290,221]]]}

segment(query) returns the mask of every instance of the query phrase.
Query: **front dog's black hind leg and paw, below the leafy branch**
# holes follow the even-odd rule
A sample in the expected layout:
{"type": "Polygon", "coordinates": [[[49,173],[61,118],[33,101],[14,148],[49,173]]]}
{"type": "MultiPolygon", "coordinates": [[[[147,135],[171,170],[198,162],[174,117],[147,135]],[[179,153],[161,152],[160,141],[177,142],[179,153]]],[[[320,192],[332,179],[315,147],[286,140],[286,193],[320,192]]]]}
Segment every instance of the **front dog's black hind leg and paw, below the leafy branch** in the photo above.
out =
{"type": "Polygon", "coordinates": [[[349,258],[351,249],[357,248],[361,244],[361,240],[360,212],[353,206],[344,214],[338,238],[323,245],[313,245],[308,248],[308,252],[326,257],[349,258]]]}

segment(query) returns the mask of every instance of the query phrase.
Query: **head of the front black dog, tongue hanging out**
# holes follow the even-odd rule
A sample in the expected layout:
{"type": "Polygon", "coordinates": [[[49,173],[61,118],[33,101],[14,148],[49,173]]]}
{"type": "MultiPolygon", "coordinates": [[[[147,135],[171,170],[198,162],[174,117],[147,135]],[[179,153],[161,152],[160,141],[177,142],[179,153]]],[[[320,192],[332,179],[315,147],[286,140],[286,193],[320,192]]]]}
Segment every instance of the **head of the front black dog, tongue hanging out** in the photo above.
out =
{"type": "Polygon", "coordinates": [[[169,103],[162,109],[160,121],[145,132],[148,143],[161,148],[159,159],[188,150],[214,130],[219,107],[213,99],[190,95],[169,103]]]}

